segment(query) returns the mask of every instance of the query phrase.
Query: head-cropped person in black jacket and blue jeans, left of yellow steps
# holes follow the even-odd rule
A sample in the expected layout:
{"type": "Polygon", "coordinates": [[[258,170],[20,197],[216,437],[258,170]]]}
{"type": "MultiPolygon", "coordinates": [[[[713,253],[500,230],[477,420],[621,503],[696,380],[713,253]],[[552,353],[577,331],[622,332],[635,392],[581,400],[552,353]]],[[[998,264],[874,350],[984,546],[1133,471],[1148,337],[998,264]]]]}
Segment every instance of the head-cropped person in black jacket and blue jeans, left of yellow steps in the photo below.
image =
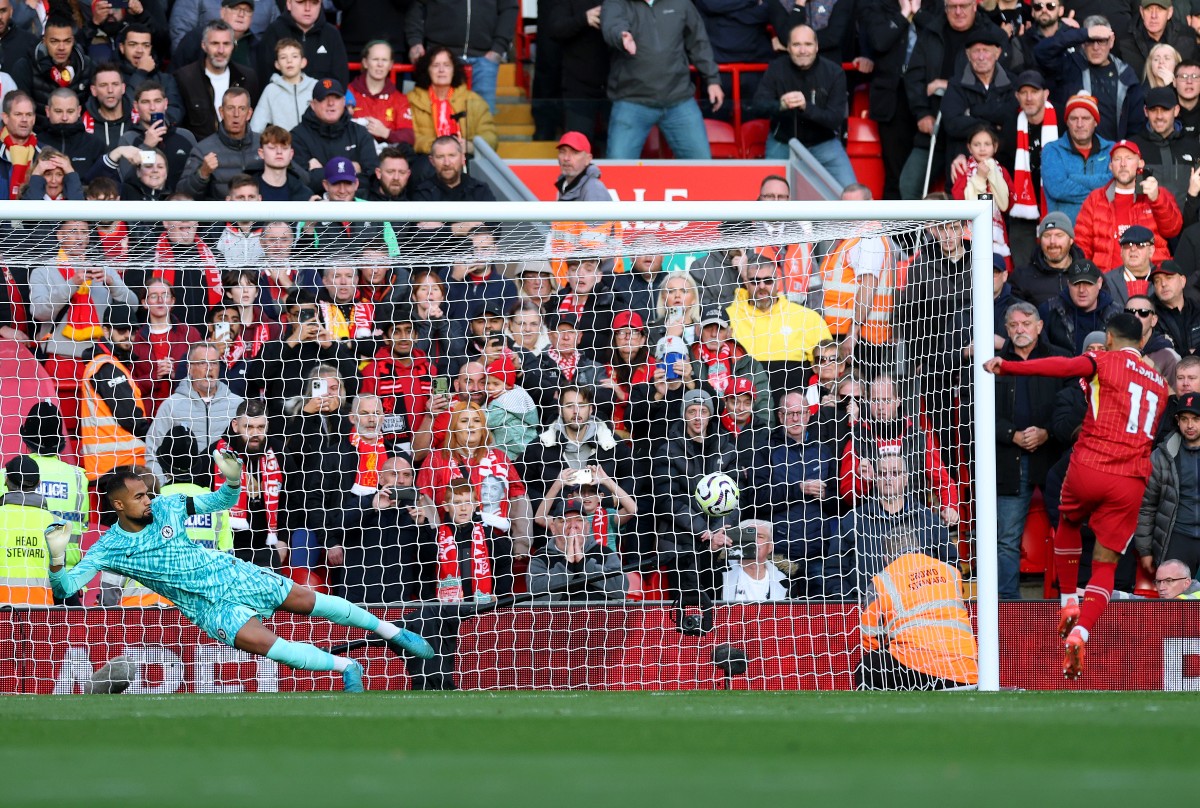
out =
{"type": "MultiPolygon", "coordinates": [[[[409,61],[419,65],[420,60],[431,59],[431,54],[439,48],[463,54],[472,68],[472,86],[494,112],[496,79],[500,62],[512,44],[517,14],[516,0],[498,0],[485,7],[469,0],[413,4],[404,17],[404,34],[410,43],[409,61]]],[[[418,68],[418,74],[421,72],[418,68]]],[[[455,86],[458,85],[456,82],[455,86]]]]}

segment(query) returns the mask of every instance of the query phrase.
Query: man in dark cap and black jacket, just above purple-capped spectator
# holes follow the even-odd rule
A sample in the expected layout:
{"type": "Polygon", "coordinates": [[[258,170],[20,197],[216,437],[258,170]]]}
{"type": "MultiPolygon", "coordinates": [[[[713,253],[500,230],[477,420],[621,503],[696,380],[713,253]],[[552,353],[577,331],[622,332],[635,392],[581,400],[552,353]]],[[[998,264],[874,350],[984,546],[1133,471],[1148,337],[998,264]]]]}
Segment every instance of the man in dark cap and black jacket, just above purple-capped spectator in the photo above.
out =
{"type": "Polygon", "coordinates": [[[354,163],[360,185],[379,164],[374,140],[350,119],[346,109],[346,85],[336,79],[317,82],[308,109],[292,130],[292,145],[296,164],[308,172],[308,187],[313,193],[320,193],[325,164],[334,157],[344,157],[354,163]]]}

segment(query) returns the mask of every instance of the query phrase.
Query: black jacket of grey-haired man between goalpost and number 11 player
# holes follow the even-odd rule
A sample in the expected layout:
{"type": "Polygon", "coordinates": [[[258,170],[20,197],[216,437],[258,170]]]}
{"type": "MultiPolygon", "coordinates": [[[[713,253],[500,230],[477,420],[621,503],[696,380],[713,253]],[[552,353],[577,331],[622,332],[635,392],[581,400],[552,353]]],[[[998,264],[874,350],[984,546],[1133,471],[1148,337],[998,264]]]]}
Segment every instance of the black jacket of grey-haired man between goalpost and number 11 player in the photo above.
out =
{"type": "MultiPolygon", "coordinates": [[[[998,355],[1004,361],[1021,361],[1013,349],[1012,341],[1004,343],[998,355]]],[[[1064,351],[1039,343],[1033,346],[1030,359],[1066,355],[1064,351]]],[[[1002,497],[1018,495],[1020,463],[1025,456],[1030,459],[1030,483],[1032,485],[1045,483],[1046,472],[1058,460],[1064,447],[1051,433],[1050,439],[1031,454],[1013,443],[1013,435],[1027,426],[1040,426],[1049,432],[1058,393],[1073,383],[1073,379],[1049,376],[996,377],[996,493],[1002,497]],[[1019,390],[1025,390],[1028,402],[1027,418],[1020,423],[1015,420],[1019,390]]]]}

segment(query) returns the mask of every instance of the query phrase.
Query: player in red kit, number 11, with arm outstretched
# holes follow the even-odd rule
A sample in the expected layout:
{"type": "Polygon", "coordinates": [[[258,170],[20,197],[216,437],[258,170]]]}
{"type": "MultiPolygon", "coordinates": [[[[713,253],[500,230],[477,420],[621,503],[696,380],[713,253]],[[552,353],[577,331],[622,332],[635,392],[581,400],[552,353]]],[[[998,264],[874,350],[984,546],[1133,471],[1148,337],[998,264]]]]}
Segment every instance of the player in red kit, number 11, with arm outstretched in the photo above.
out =
{"type": "Polygon", "coordinates": [[[1088,382],[1084,426],[1062,486],[1058,529],[1054,534],[1055,567],[1062,608],[1058,635],[1066,640],[1062,674],[1079,678],[1088,633],[1112,595],[1117,561],[1138,526],[1138,509],[1150,479],[1150,453],[1158,419],[1166,408],[1166,381],[1141,355],[1141,323],[1120,313],[1104,329],[1108,351],[1082,357],[989,359],[984,370],[1008,376],[1082,377],[1088,382]],[[1079,527],[1096,533],[1092,577],[1079,604],[1079,527]]]}

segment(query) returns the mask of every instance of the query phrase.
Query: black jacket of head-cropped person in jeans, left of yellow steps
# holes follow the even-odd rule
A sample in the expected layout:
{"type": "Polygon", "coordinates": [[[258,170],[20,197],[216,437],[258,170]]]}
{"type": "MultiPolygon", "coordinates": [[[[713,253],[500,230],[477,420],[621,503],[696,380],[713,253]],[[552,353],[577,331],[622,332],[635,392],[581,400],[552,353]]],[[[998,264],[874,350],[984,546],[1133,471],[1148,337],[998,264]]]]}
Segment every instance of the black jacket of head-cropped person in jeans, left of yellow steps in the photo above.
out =
{"type": "Polygon", "coordinates": [[[413,2],[404,14],[409,46],[444,44],[460,56],[508,53],[516,31],[517,0],[413,2]]]}

